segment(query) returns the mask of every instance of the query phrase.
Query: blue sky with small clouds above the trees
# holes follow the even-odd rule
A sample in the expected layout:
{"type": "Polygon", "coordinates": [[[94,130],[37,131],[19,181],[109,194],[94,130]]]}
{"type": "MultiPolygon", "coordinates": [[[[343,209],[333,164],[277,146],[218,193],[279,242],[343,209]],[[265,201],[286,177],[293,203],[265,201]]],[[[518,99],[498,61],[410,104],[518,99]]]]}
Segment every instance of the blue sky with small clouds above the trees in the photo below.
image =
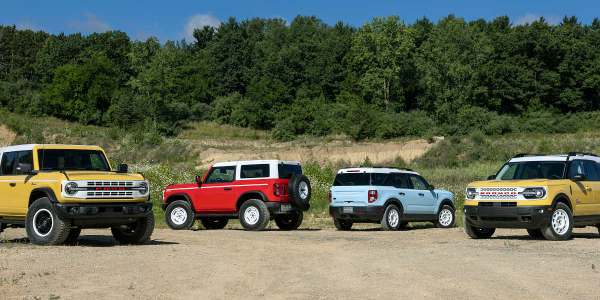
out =
{"type": "Polygon", "coordinates": [[[357,27],[375,16],[397,14],[407,23],[422,16],[436,21],[454,13],[467,21],[491,20],[508,15],[512,22],[526,23],[544,16],[558,23],[563,16],[574,14],[584,24],[600,16],[600,1],[3,1],[2,25],[20,29],[44,30],[53,34],[121,30],[133,39],[158,37],[161,42],[181,40],[195,27],[218,25],[229,16],[282,17],[292,22],[298,14],[317,16],[326,23],[338,20],[357,27]]]}

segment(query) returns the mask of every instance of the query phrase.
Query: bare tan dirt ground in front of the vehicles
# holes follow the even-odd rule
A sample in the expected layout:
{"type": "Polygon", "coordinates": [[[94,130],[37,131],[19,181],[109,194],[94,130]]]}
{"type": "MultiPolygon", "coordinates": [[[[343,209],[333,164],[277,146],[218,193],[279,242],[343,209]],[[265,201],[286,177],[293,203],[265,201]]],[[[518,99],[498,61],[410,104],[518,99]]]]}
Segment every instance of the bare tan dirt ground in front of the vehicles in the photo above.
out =
{"type": "MultiPolygon", "coordinates": [[[[369,226],[367,226],[369,227],[369,226]]],[[[156,229],[146,245],[83,230],[79,245],[0,238],[0,299],[598,299],[600,236],[499,229],[382,232],[156,229]],[[59,298],[57,298],[59,297],[59,298]]]]}

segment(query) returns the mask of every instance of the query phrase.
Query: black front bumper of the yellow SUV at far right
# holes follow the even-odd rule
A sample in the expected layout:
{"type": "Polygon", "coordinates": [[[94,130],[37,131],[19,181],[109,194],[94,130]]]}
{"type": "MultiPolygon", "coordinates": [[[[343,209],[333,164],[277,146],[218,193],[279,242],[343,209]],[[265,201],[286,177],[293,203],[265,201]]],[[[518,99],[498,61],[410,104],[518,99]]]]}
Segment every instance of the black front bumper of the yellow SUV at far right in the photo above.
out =
{"type": "Polygon", "coordinates": [[[522,228],[537,229],[550,224],[551,206],[502,206],[502,202],[492,202],[492,206],[465,205],[463,208],[466,223],[477,228],[522,228]]]}

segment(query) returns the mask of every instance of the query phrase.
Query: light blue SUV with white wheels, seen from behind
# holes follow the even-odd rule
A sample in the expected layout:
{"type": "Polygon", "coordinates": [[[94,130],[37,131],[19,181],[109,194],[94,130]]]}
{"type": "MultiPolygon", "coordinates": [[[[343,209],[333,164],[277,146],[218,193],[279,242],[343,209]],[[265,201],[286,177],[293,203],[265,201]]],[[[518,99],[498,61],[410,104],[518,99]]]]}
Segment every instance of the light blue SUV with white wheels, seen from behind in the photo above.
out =
{"type": "Polygon", "coordinates": [[[435,190],[411,169],[341,169],[329,190],[329,214],[339,230],[348,230],[353,223],[381,223],[383,230],[398,230],[423,221],[450,228],[454,209],[451,192],[435,190]]]}

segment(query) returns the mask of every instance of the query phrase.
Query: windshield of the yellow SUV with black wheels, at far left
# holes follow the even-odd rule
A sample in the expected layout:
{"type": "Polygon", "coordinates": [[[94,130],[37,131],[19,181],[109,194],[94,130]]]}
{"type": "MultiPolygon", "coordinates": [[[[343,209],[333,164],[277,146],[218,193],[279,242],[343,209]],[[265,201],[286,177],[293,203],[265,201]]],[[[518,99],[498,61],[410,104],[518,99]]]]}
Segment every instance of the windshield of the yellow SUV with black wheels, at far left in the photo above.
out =
{"type": "Polygon", "coordinates": [[[100,150],[38,149],[38,162],[40,170],[110,171],[100,150]]]}

